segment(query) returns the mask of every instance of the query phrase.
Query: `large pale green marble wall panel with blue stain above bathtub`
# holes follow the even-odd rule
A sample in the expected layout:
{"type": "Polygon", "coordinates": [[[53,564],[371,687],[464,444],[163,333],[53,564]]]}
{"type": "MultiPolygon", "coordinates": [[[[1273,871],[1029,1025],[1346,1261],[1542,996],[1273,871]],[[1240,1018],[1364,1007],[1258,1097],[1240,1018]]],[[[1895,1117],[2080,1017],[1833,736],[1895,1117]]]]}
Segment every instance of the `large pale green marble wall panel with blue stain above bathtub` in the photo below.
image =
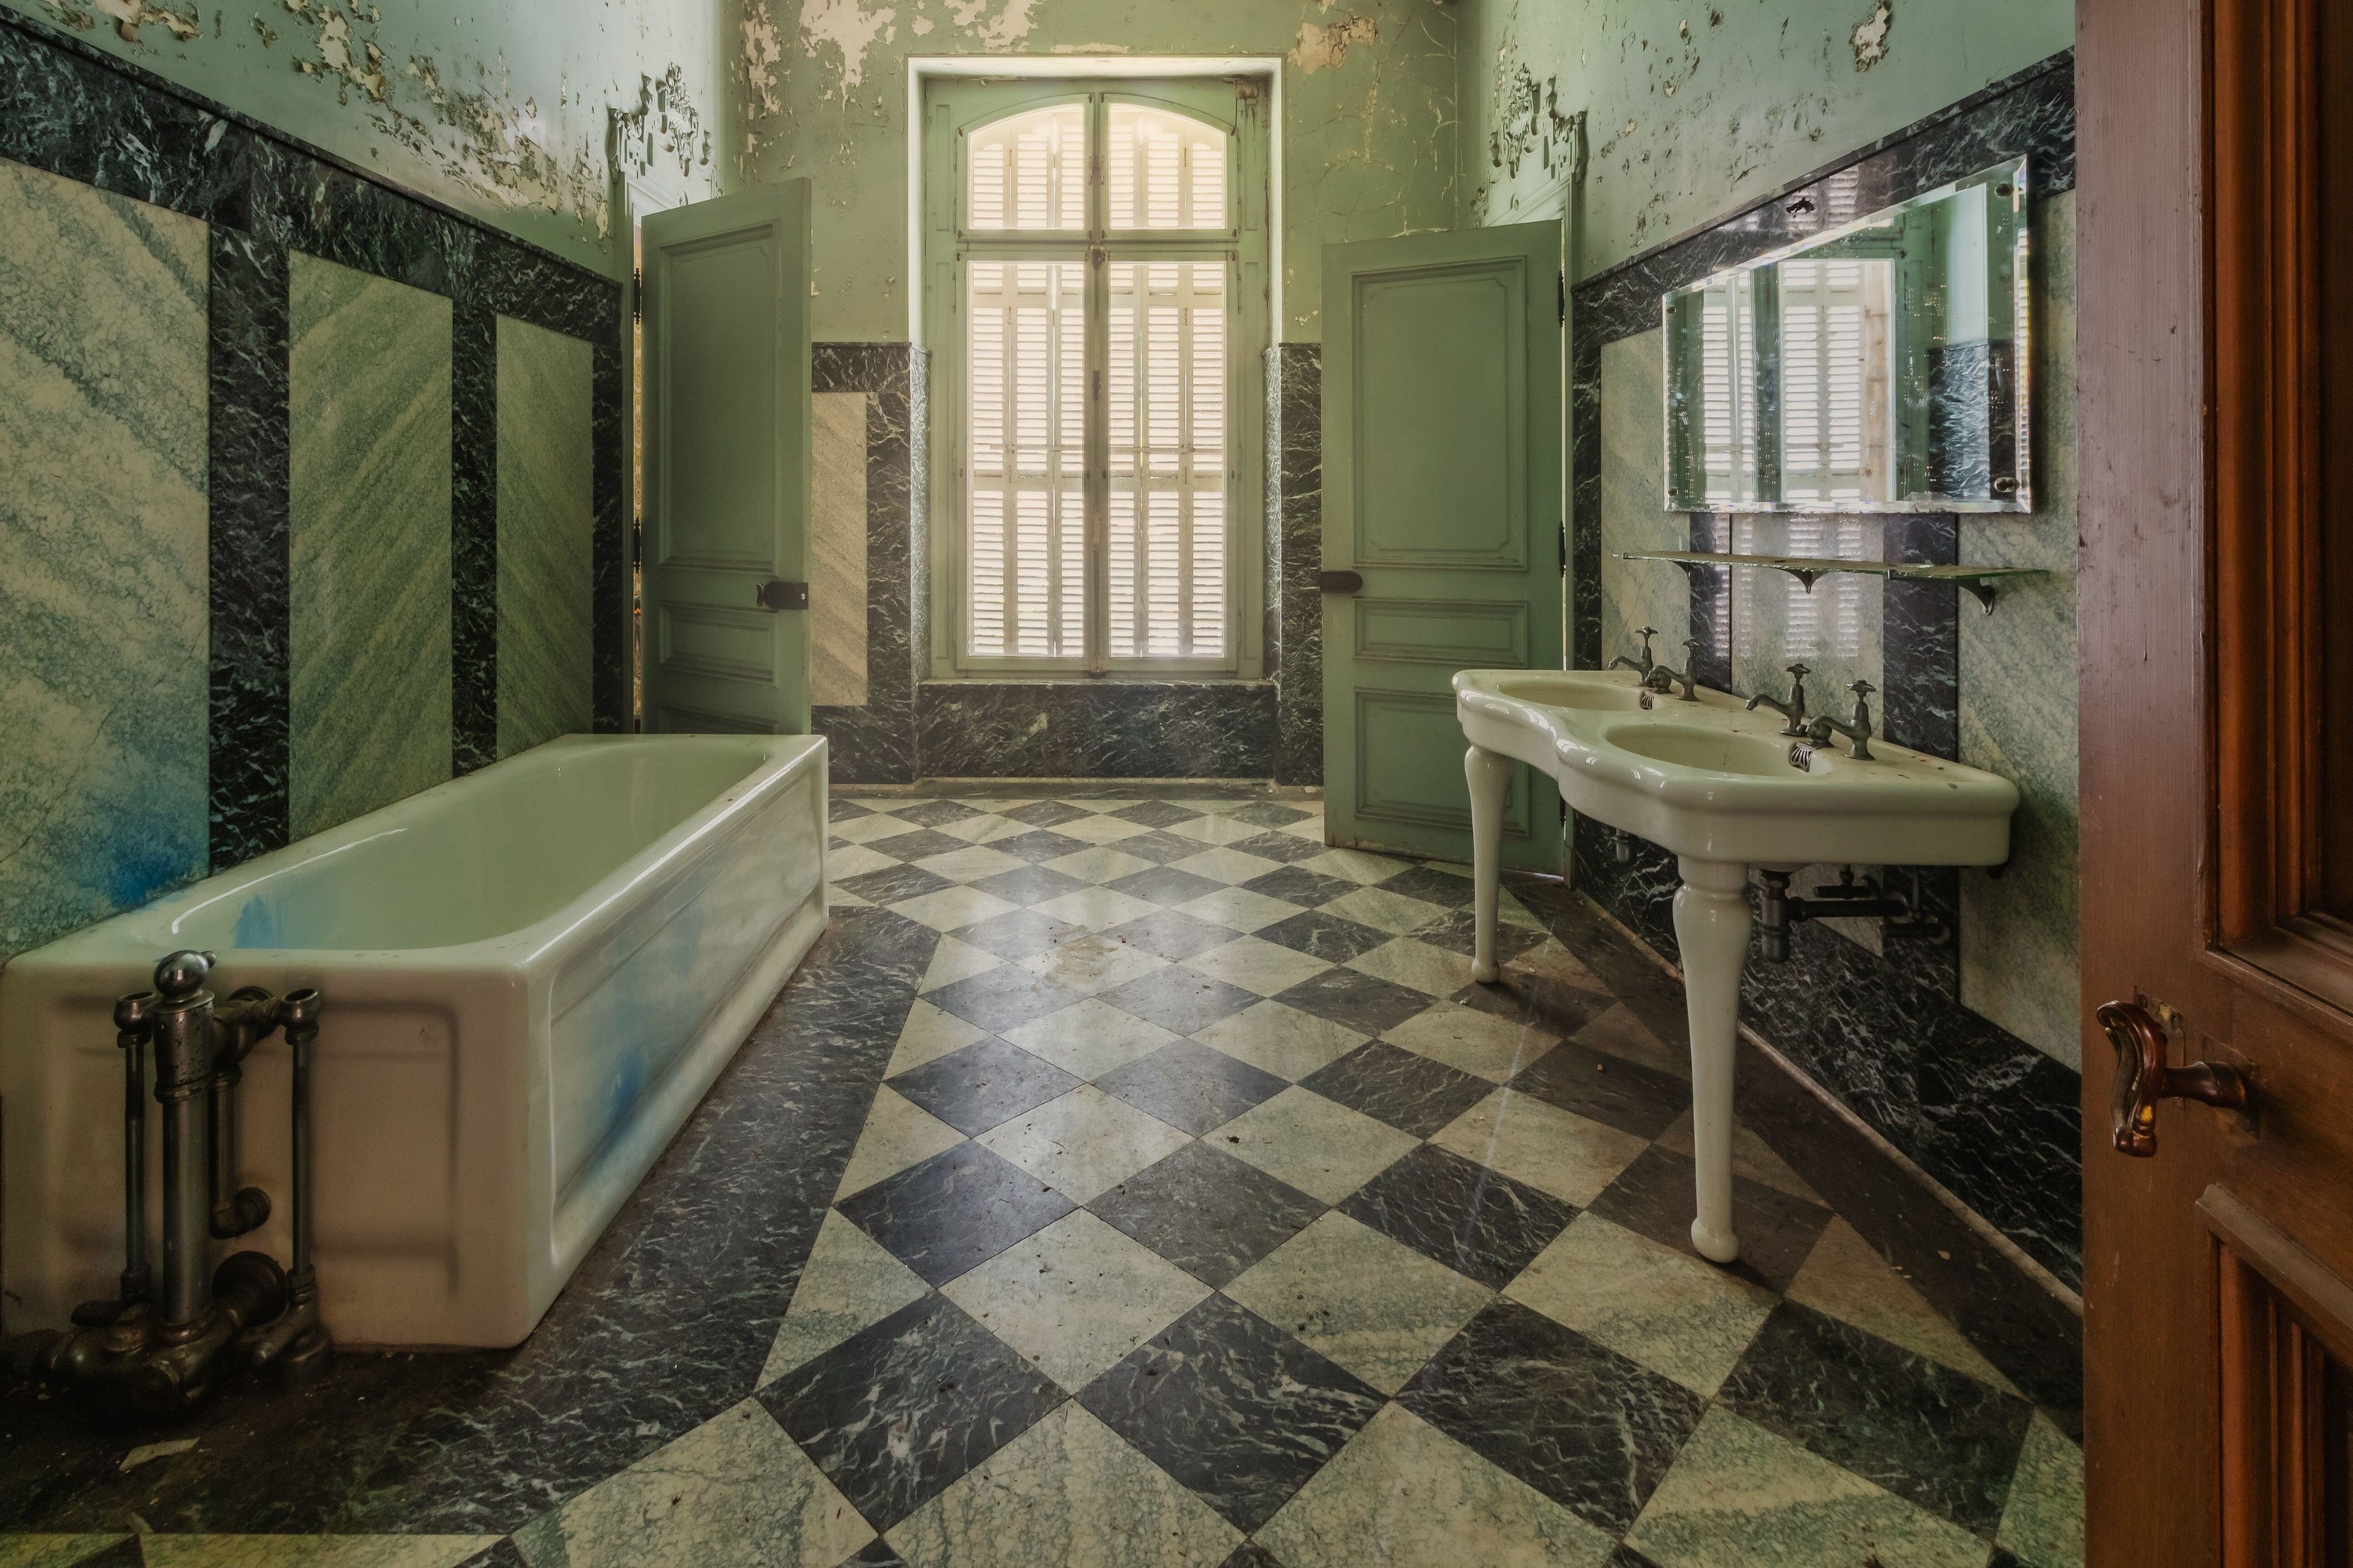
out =
{"type": "Polygon", "coordinates": [[[0,957],[205,872],[205,244],[0,160],[0,957]]]}

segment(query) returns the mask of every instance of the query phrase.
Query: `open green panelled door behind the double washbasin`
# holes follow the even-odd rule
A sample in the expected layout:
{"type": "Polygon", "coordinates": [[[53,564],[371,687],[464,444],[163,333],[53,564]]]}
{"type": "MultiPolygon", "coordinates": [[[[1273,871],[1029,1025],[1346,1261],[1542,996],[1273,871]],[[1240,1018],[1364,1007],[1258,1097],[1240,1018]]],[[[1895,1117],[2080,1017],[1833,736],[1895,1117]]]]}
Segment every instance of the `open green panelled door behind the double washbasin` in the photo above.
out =
{"type": "MultiPolygon", "coordinates": [[[[1560,223],[1325,247],[1325,827],[1471,858],[1457,670],[1562,668],[1560,223]],[[1332,574],[1355,574],[1334,585],[1332,574]]],[[[1504,865],[1560,870],[1520,769],[1504,865]]]]}

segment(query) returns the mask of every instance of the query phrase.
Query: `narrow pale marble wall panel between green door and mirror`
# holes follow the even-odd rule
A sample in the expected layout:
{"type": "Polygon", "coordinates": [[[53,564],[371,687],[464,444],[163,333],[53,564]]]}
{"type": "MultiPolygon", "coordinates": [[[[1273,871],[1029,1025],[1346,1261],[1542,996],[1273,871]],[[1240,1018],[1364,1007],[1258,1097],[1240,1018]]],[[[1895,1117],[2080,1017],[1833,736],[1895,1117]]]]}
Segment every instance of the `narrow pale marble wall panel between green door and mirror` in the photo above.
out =
{"type": "Polygon", "coordinates": [[[1652,651],[1682,668],[1692,590],[1680,567],[1621,562],[1619,550],[1689,550],[1692,520],[1668,512],[1659,334],[1602,346],[1602,658],[1635,646],[1631,628],[1657,625],[1652,651]]]}

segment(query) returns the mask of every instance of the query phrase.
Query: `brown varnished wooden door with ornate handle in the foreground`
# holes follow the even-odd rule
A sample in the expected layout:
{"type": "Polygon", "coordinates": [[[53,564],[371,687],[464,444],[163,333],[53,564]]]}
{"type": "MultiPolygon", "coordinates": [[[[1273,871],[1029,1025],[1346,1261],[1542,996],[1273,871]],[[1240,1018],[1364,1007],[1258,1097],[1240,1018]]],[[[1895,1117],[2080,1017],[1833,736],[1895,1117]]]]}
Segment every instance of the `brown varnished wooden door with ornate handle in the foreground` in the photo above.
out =
{"type": "Polygon", "coordinates": [[[2346,33],[2078,9],[2092,1563],[2353,1554],[2346,33]]]}

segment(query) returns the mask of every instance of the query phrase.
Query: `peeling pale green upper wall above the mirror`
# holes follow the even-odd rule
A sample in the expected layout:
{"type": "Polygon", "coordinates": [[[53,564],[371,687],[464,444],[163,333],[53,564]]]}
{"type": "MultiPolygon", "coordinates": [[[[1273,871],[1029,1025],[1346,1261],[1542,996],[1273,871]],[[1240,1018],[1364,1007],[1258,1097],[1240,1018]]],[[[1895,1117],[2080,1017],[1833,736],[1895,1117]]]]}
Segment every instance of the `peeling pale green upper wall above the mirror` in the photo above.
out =
{"type": "Polygon", "coordinates": [[[1584,277],[2066,49],[2064,0],[1461,0],[1459,221],[1558,216],[1584,277]]]}

